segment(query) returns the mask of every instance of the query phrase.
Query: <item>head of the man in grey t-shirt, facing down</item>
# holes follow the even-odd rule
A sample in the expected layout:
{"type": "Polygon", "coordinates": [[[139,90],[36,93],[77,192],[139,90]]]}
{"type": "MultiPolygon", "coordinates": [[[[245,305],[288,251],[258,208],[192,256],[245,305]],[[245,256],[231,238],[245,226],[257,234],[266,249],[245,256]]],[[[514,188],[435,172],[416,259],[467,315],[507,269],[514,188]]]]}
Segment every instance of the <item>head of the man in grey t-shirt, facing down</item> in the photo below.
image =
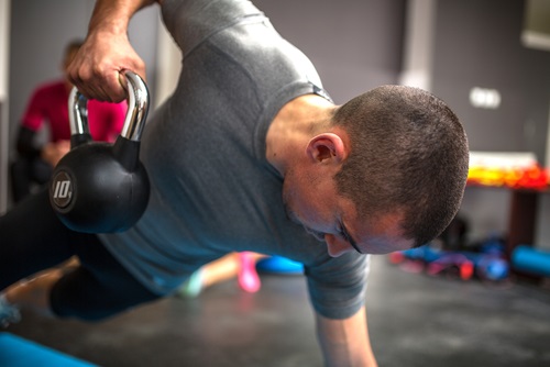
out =
{"type": "Polygon", "coordinates": [[[420,89],[383,86],[337,108],[285,175],[290,219],[332,256],[438,236],[459,210],[469,152],[455,114],[420,89]]]}

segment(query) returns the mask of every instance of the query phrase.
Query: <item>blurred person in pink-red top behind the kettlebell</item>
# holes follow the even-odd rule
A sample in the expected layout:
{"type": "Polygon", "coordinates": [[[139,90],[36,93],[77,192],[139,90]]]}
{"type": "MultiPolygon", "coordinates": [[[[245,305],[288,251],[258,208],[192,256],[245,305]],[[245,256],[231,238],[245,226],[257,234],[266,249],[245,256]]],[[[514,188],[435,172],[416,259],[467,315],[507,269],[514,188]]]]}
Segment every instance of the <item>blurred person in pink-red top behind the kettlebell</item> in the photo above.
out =
{"type": "MultiPolygon", "coordinates": [[[[80,48],[81,41],[70,42],[63,59],[65,71],[80,48]]],[[[53,167],[70,148],[68,97],[73,85],[68,79],[40,85],[32,93],[21,119],[16,137],[18,156],[11,165],[13,201],[18,202],[31,192],[34,185],[50,180],[53,167]],[[36,135],[47,124],[50,140],[36,146],[36,135]]],[[[122,130],[127,103],[109,103],[90,100],[88,123],[95,141],[113,142],[122,130]]]]}

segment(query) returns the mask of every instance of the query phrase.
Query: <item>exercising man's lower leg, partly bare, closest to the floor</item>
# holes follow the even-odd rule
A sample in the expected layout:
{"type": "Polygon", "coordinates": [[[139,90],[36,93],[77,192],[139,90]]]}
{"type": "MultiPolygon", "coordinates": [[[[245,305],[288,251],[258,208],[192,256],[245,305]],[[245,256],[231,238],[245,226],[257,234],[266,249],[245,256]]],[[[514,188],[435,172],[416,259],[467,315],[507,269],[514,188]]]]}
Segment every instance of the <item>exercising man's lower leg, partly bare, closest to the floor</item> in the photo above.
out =
{"type": "MultiPolygon", "coordinates": [[[[98,244],[98,247],[92,251],[96,255],[105,251],[102,245],[98,244]]],[[[1,294],[0,323],[18,322],[22,309],[46,316],[95,321],[158,298],[110,255],[101,256],[101,259],[100,270],[94,265],[80,266],[75,260],[8,287],[1,294]]]]}

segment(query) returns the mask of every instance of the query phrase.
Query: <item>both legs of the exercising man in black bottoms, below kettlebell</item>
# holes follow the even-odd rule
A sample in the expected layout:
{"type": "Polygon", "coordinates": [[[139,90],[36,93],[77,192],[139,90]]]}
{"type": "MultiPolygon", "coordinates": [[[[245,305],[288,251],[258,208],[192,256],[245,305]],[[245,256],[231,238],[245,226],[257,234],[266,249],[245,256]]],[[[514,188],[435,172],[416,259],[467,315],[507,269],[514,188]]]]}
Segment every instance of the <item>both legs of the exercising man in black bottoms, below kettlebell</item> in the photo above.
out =
{"type": "Polygon", "coordinates": [[[2,289],[11,285],[3,292],[8,305],[97,320],[158,298],[98,236],[65,227],[48,200],[43,190],[0,218],[0,280],[2,289]],[[55,268],[73,255],[81,265],[55,268]]]}

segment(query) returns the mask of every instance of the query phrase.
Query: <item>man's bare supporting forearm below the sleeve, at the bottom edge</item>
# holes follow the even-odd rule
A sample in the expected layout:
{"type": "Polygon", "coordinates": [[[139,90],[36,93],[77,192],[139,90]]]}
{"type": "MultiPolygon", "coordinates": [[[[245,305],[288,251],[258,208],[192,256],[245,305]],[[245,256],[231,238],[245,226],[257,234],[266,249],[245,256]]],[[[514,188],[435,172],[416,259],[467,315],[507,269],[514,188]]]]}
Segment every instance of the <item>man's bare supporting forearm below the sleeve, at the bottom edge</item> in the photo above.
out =
{"type": "Polygon", "coordinates": [[[327,319],[317,313],[316,321],[326,366],[377,366],[369,340],[365,307],[342,320],[327,319]]]}

